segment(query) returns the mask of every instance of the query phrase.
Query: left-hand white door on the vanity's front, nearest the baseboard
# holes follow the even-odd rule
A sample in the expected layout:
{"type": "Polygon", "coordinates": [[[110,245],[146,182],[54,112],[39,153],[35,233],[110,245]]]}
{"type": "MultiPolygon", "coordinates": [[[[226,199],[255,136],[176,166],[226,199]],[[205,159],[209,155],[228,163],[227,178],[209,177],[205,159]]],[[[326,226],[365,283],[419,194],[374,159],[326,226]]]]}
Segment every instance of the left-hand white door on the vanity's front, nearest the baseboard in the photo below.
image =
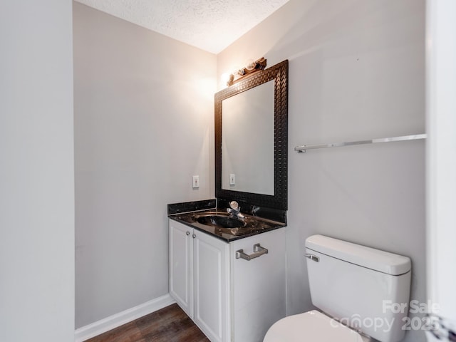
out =
{"type": "Polygon", "coordinates": [[[170,296],[193,318],[193,229],[170,219],[170,296]]]}

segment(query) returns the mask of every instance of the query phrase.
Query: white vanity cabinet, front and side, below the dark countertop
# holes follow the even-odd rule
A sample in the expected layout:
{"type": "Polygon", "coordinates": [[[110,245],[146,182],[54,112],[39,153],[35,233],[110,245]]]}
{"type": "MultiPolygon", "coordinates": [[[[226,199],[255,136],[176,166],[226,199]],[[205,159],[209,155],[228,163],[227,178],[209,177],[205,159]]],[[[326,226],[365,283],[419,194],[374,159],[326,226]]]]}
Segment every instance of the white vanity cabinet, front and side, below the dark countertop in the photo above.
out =
{"type": "Polygon", "coordinates": [[[170,295],[210,341],[261,342],[286,316],[285,252],[285,229],[228,243],[170,219],[170,295]]]}

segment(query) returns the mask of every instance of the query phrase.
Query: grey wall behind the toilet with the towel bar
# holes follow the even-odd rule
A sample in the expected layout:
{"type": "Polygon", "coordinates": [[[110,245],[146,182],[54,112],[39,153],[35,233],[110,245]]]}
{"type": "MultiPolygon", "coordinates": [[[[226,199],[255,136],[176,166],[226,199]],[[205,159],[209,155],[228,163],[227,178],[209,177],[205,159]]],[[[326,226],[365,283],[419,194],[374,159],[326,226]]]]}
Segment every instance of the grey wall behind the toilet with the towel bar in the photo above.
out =
{"type": "Polygon", "coordinates": [[[217,80],[261,56],[289,59],[289,314],[311,309],[316,233],[410,257],[425,301],[425,142],[293,151],[425,131],[425,1],[291,0],[217,55],[217,80]]]}

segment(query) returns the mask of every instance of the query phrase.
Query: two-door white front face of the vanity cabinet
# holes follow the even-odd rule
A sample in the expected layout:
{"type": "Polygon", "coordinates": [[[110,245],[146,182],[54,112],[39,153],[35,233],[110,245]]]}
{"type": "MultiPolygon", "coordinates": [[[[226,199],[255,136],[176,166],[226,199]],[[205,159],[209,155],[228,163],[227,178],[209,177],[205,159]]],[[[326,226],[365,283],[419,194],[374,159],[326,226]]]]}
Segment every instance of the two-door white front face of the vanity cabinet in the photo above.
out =
{"type": "Polygon", "coordinates": [[[229,341],[229,245],[170,219],[170,295],[210,341],[229,341]]]}

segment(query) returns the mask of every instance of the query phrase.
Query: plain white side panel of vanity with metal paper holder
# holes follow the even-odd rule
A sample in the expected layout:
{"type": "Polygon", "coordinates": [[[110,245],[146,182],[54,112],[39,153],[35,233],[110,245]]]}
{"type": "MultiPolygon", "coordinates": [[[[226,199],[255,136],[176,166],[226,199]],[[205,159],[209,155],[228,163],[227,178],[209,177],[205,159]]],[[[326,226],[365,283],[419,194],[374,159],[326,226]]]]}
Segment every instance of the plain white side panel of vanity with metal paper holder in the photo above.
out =
{"type": "Polygon", "coordinates": [[[286,316],[285,229],[239,239],[231,244],[232,341],[261,342],[269,327],[286,316]],[[254,254],[254,244],[267,254],[247,261],[236,259],[243,249],[254,254]]]}

